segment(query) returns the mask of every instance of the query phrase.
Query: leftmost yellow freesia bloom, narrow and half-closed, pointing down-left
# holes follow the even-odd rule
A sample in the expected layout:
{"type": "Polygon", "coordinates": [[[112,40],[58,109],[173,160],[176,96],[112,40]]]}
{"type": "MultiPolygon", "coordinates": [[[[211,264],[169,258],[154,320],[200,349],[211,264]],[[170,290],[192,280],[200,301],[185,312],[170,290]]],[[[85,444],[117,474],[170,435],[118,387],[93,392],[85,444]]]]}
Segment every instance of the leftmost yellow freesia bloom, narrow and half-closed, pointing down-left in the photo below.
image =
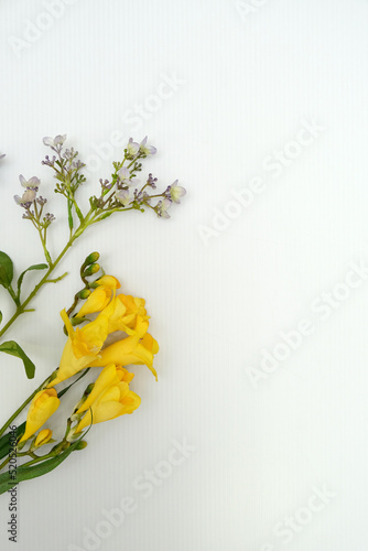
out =
{"type": "Polygon", "coordinates": [[[25,432],[20,442],[31,437],[51,418],[59,406],[59,399],[54,388],[40,390],[33,398],[25,423],[25,432]]]}

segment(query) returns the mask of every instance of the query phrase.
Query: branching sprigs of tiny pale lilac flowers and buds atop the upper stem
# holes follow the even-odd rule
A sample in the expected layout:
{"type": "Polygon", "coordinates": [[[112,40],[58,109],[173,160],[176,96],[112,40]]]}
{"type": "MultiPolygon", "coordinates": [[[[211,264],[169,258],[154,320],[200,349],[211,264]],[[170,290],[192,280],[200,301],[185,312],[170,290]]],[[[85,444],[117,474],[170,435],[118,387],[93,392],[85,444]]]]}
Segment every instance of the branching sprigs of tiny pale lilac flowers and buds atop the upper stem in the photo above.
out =
{"type": "MultiPolygon", "coordinates": [[[[82,173],[86,165],[77,159],[78,151],[75,151],[74,148],[64,148],[66,134],[44,138],[43,142],[47,148],[51,148],[53,155],[46,155],[42,164],[50,166],[54,171],[54,179],[56,180],[54,192],[66,198],[71,245],[88,226],[101,222],[117,212],[136,209],[144,213],[144,209],[149,208],[159,218],[170,218],[167,210],[172,203],[180,203],[181,197],[186,193],[185,188],[180,186],[177,180],[175,180],[164,192],[151,194],[150,191],[156,190],[158,179],[150,173],[145,182],[141,184],[137,174],[142,171],[142,161],[150,155],[154,155],[156,148],[148,144],[147,137],[140,143],[130,138],[123,150],[123,159],[113,163],[115,172],[111,174],[110,180],[100,179],[100,193],[98,196],[93,195],[89,197],[89,210],[84,214],[76,195],[78,187],[86,181],[85,175],[82,173]],[[78,218],[76,229],[74,215],[78,218]]],[[[42,196],[37,197],[40,179],[33,176],[25,180],[22,174],[19,179],[25,191],[22,196],[14,195],[14,201],[25,209],[23,218],[30,219],[39,231],[47,263],[53,266],[46,241],[47,228],[55,220],[55,216],[46,213],[42,217],[47,199],[42,196]]]]}

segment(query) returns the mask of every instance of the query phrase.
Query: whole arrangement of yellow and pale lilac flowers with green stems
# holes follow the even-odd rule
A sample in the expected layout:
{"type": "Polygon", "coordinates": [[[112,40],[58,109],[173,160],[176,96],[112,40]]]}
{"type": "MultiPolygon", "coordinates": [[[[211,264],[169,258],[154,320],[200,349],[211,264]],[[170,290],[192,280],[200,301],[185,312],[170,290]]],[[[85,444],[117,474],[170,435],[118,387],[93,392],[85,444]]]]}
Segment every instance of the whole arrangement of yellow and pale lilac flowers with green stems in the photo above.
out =
{"type": "MultiPolygon", "coordinates": [[[[159,217],[169,218],[167,209],[172,203],[180,203],[185,194],[184,187],[177,185],[177,181],[160,194],[150,193],[156,190],[158,181],[152,174],[149,174],[143,184],[140,183],[137,175],[142,170],[142,160],[155,154],[156,150],[147,143],[147,138],[140,143],[130,138],[123,150],[123,159],[113,163],[111,179],[99,181],[99,195],[89,198],[89,209],[84,213],[77,201],[77,191],[86,181],[82,172],[85,164],[78,160],[77,151],[64,148],[65,140],[66,136],[44,138],[44,144],[52,149],[53,155],[46,155],[42,164],[53,170],[56,179],[54,191],[66,201],[68,239],[58,256],[53,259],[48,251],[47,237],[55,217],[51,213],[44,213],[47,199],[39,195],[40,180],[35,176],[25,180],[20,175],[24,191],[21,196],[15,195],[14,201],[24,210],[23,218],[35,227],[45,262],[32,264],[24,270],[15,287],[13,262],[6,252],[0,251],[0,285],[9,293],[15,309],[10,320],[0,328],[0,338],[19,316],[34,311],[29,304],[43,285],[57,283],[66,276],[64,273],[52,277],[75,240],[89,226],[115,213],[132,209],[143,213],[148,208],[159,217]],[[31,270],[43,271],[43,276],[33,291],[23,298],[22,283],[31,270]]],[[[0,155],[0,160],[3,156],[0,155]]],[[[80,267],[83,288],[76,292],[71,307],[61,312],[67,341],[58,367],[0,429],[0,494],[22,480],[53,471],[72,452],[85,449],[87,442],[84,437],[93,424],[132,413],[140,406],[140,397],[130,389],[133,374],[127,366],[145,365],[156,378],[153,358],[159,352],[159,345],[148,333],[145,302],[143,299],[120,293],[119,280],[106,274],[98,260],[98,252],[91,252],[85,259],[80,267]],[[64,436],[55,441],[50,428],[51,418],[58,409],[62,397],[90,370],[96,371],[95,382],[80,391],[80,400],[67,418],[64,436]],[[26,407],[26,420],[14,425],[14,420],[26,407]],[[46,452],[43,453],[44,450],[46,452]],[[19,464],[19,461],[23,463],[19,464]]],[[[23,361],[26,376],[34,377],[35,366],[19,343],[1,341],[0,352],[19,357],[23,361]]]]}

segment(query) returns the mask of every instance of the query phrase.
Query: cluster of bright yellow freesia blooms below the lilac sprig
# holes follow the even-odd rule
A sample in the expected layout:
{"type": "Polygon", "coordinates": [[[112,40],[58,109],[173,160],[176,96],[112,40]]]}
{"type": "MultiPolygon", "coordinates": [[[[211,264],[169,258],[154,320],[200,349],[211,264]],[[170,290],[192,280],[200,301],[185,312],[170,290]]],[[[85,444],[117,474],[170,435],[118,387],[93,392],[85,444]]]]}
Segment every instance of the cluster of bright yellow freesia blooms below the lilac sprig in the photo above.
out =
{"type": "MultiPolygon", "coordinates": [[[[96,264],[97,266],[97,264],[96,264]]],[[[140,298],[117,294],[120,282],[112,276],[102,276],[94,282],[94,290],[78,312],[69,317],[61,312],[67,332],[58,369],[50,381],[34,396],[26,418],[20,449],[33,437],[30,450],[50,443],[52,431],[43,429],[59,407],[55,387],[90,367],[102,367],[95,383],[89,385],[67,421],[67,431],[61,444],[67,447],[90,424],[132,413],[140,398],[130,390],[133,374],[128,365],[147,365],[156,378],[153,357],[159,350],[156,341],[148,333],[149,316],[145,301],[140,298]],[[93,321],[86,316],[96,316],[93,321]],[[73,323],[78,326],[75,328],[73,323]],[[79,325],[83,326],[80,327],[79,325]],[[122,337],[122,335],[126,335],[122,337]],[[108,337],[116,335],[107,345],[108,337]]],[[[83,296],[80,292],[78,296],[83,296]]],[[[64,447],[57,444],[59,453],[64,447]]]]}

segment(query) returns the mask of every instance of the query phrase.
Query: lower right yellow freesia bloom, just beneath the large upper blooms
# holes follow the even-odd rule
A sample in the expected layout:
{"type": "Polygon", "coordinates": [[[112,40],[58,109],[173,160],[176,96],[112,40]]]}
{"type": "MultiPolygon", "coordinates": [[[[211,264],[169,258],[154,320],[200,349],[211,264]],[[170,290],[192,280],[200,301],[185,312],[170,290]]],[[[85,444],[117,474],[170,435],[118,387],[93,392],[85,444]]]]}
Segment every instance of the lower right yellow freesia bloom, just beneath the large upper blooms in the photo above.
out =
{"type": "Polygon", "coordinates": [[[141,403],[138,395],[129,390],[129,382],[133,374],[127,369],[109,364],[100,372],[95,387],[77,413],[86,414],[79,421],[76,433],[83,431],[91,422],[101,423],[132,413],[141,403]],[[91,410],[91,412],[90,412],[91,410]]]}

